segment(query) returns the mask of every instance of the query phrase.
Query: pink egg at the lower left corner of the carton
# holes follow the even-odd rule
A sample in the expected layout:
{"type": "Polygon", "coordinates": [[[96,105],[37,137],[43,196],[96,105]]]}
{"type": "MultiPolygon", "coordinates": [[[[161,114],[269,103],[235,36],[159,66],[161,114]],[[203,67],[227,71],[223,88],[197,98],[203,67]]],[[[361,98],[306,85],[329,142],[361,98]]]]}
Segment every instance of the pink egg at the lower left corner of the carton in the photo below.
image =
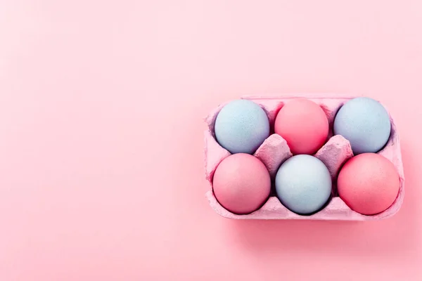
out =
{"type": "Polygon", "coordinates": [[[257,157],[238,153],[225,158],[212,180],[218,202],[234,214],[249,214],[269,197],[271,181],[267,168],[257,157]]]}

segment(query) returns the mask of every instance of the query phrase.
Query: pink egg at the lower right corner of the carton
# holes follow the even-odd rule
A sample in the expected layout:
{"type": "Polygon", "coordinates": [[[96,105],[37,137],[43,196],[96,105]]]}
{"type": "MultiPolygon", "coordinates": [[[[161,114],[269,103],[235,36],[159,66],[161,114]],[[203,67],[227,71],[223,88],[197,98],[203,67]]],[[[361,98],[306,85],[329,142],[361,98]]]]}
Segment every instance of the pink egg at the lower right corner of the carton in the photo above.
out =
{"type": "Polygon", "coordinates": [[[338,195],[350,207],[364,215],[385,211],[399,192],[399,174],[395,166],[376,153],[363,153],[350,159],[338,175],[338,195]]]}

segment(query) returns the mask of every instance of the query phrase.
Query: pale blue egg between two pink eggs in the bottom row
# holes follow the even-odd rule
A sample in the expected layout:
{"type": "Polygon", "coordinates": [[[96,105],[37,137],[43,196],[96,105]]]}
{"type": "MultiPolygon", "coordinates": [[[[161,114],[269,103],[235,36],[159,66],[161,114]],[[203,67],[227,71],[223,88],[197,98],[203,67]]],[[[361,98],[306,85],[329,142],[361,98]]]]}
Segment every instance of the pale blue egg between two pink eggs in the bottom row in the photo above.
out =
{"type": "Polygon", "coordinates": [[[284,162],[276,174],[277,197],[297,214],[312,214],[331,195],[331,176],[321,160],[311,155],[296,155],[284,162]]]}

